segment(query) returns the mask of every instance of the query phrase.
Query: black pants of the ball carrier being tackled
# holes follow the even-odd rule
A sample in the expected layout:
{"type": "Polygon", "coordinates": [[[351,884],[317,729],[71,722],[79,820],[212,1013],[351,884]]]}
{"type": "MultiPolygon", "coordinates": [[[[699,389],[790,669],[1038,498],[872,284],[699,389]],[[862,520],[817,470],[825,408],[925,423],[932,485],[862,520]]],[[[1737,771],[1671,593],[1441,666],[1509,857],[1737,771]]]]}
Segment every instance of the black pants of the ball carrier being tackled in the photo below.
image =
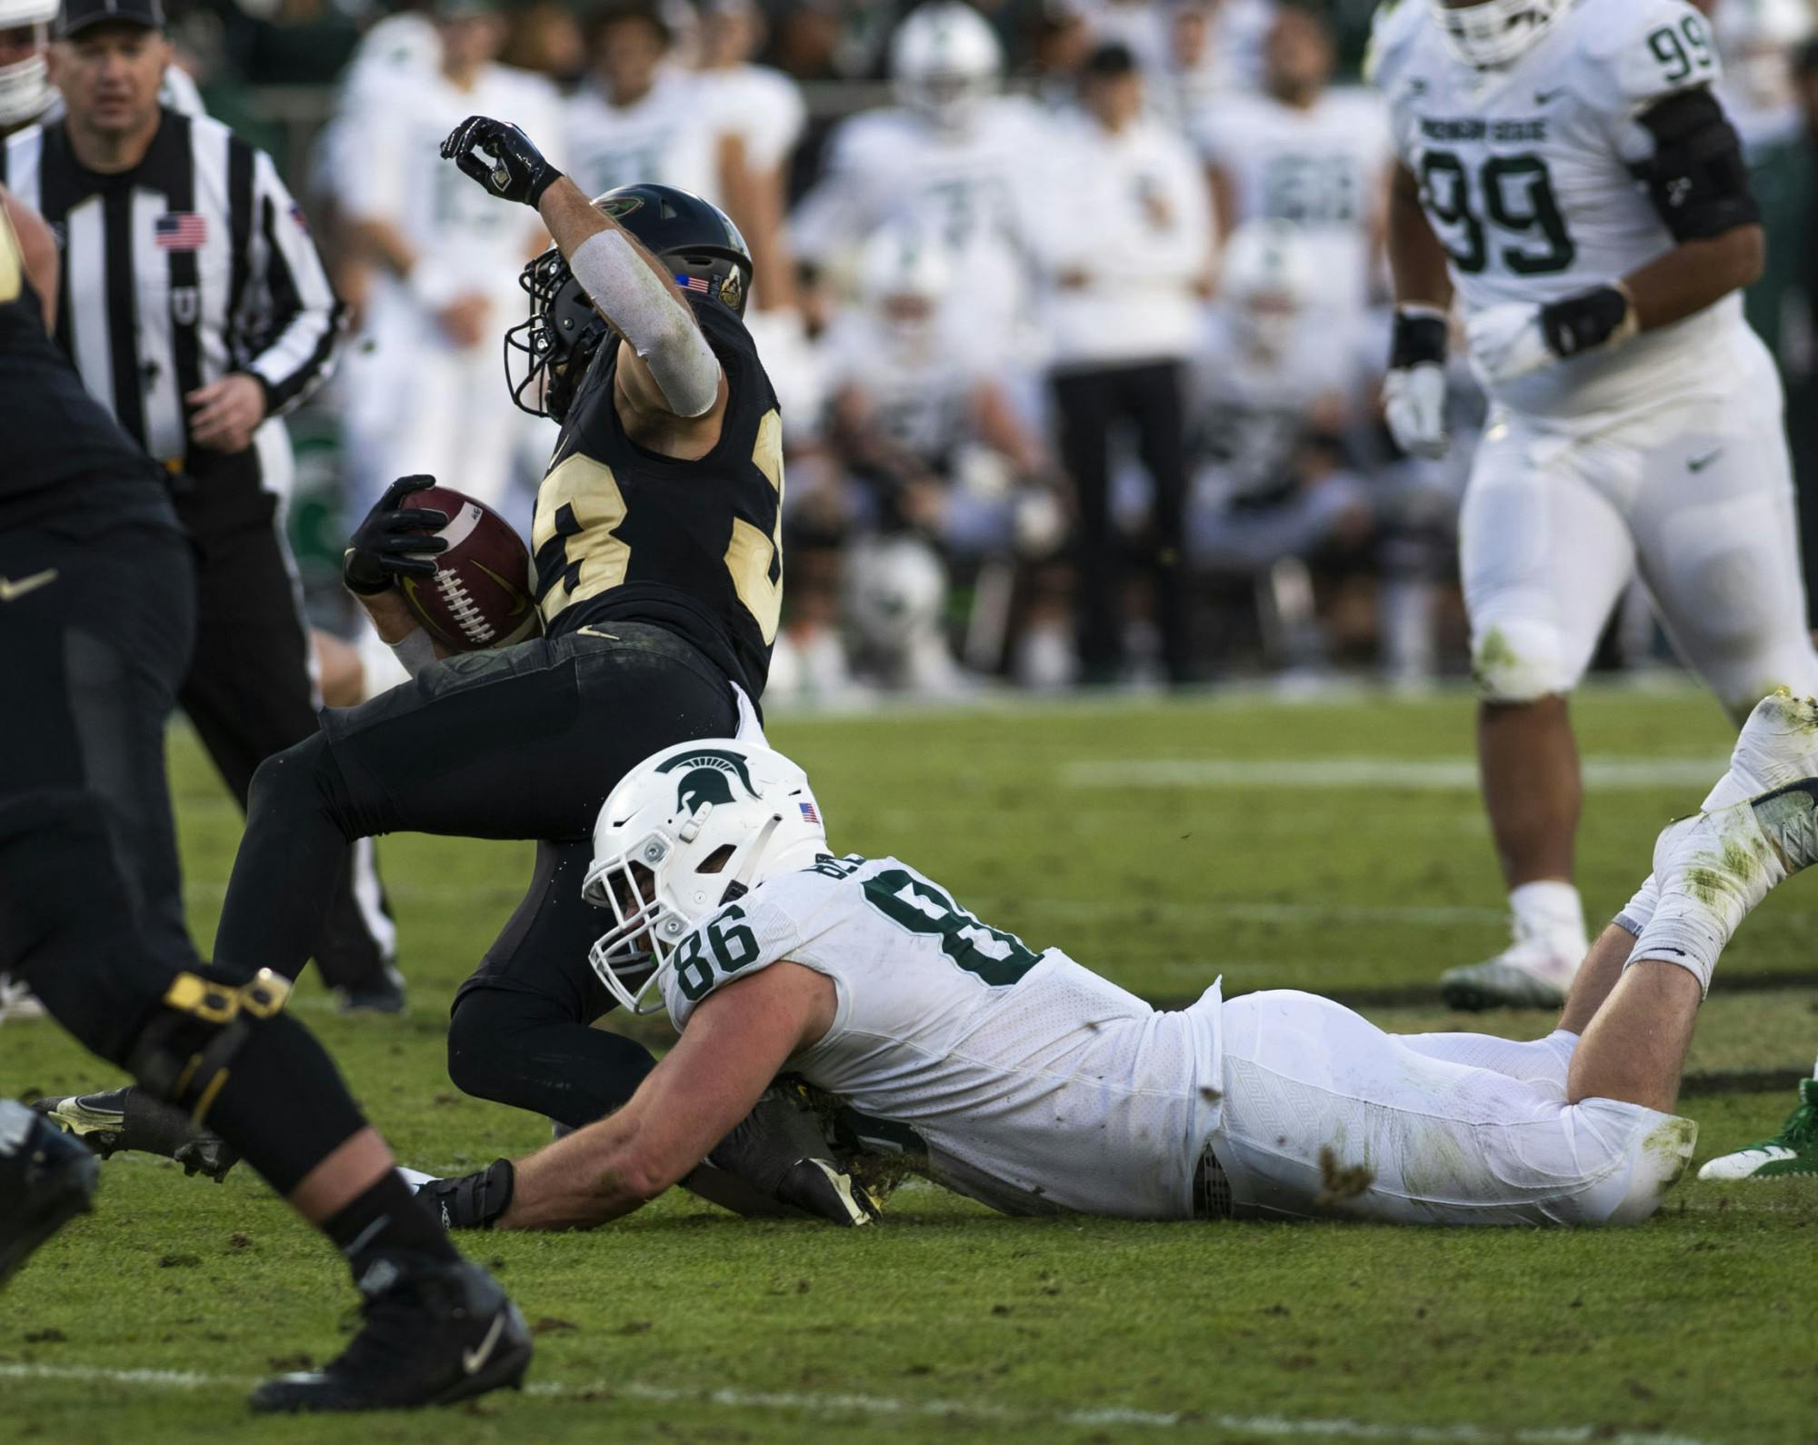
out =
{"type": "Polygon", "coordinates": [[[647,1049],[587,1027],[613,1007],[587,962],[611,920],[582,902],[593,827],[620,778],[687,738],[738,731],[725,676],[676,634],[614,622],[467,653],[258,769],[216,963],[289,969],[355,838],[536,840],[529,891],[454,998],[449,1078],[580,1127],[620,1107],[647,1049]]]}

